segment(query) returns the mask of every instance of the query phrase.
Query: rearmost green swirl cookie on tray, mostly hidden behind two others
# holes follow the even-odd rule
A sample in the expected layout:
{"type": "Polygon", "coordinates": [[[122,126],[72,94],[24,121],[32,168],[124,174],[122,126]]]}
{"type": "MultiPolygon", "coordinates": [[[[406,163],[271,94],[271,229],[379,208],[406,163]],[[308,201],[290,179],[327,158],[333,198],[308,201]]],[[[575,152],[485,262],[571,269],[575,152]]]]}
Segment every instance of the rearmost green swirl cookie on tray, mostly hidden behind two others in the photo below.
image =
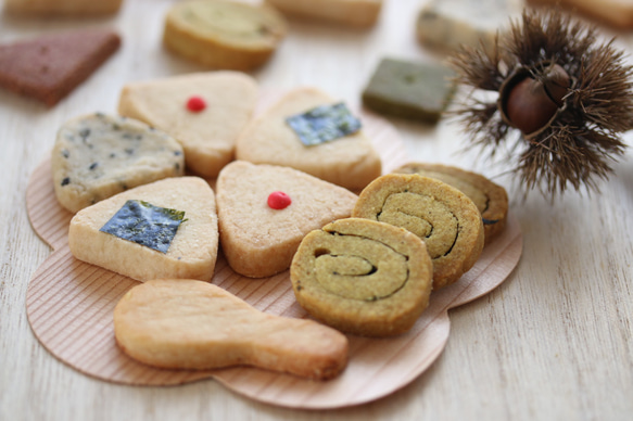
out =
{"type": "Polygon", "coordinates": [[[419,174],[435,178],[453,186],[466,194],[481,213],[485,243],[489,243],[506,226],[508,214],[508,193],[480,174],[441,165],[409,163],[393,170],[396,174],[419,174]]]}

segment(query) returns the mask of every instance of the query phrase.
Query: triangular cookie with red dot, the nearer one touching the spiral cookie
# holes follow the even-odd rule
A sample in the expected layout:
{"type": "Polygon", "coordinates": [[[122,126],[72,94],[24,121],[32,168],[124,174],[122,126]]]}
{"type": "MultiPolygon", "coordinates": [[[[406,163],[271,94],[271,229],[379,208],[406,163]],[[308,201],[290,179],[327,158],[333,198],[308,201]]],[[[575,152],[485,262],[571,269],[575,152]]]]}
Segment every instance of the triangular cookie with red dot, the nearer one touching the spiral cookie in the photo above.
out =
{"type": "Polygon", "coordinates": [[[221,170],[216,192],[224,254],[252,278],[288,269],[303,237],[349,217],[357,199],[292,168],[239,161],[221,170]]]}

